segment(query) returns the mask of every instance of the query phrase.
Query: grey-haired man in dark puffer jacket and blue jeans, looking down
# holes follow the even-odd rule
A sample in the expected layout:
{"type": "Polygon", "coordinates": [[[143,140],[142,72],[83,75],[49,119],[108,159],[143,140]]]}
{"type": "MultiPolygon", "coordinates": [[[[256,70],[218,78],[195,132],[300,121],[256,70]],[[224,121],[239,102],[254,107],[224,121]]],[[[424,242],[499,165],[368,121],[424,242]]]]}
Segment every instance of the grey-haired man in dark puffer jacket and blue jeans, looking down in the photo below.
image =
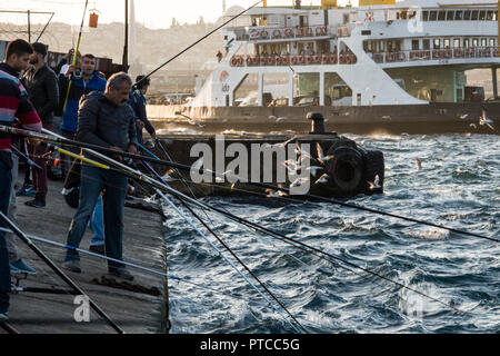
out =
{"type": "MultiPolygon", "coordinates": [[[[109,78],[106,92],[93,91],[80,101],[77,140],[102,146],[116,151],[137,154],[136,116],[127,105],[131,78],[116,73],[109,78]]],[[[87,155],[89,157],[89,155],[87,155]]],[[[94,159],[93,157],[89,157],[94,159]]],[[[114,159],[121,160],[119,155],[114,159]]],[[[106,255],[122,259],[123,206],[127,195],[127,176],[88,165],[81,168],[80,204],[71,221],[68,246],[78,248],[92,215],[96,200],[102,196],[104,215],[106,255]]],[[[81,273],[80,258],[76,250],[68,250],[64,268],[81,273]]],[[[117,277],[133,280],[133,276],[119,263],[108,263],[108,270],[117,277]]]]}

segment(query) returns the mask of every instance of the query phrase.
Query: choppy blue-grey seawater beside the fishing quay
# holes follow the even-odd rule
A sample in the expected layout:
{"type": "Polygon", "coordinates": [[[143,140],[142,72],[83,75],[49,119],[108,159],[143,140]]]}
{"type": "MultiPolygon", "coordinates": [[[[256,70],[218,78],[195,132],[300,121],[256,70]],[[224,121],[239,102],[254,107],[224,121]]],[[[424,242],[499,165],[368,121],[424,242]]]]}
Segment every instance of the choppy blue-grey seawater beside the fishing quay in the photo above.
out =
{"type": "MultiPolygon", "coordinates": [[[[500,238],[498,136],[349,138],[382,150],[387,168],[383,195],[349,201],[500,238]]],[[[309,333],[500,332],[498,243],[332,204],[276,204],[266,197],[204,201],[467,312],[197,210],[309,333]]],[[[169,281],[172,333],[293,332],[181,217],[166,211],[169,274],[200,285],[169,281]]]]}

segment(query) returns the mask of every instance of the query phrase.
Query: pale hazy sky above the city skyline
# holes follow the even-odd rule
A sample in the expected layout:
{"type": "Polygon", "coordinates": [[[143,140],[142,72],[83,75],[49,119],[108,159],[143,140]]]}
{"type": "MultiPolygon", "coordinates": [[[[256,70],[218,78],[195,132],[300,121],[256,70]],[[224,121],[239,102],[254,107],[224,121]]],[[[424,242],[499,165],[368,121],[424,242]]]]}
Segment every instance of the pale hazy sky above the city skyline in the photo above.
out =
{"type": "MultiPolygon", "coordinates": [[[[88,10],[99,10],[99,23],[123,22],[126,0],[89,0],[88,10]]],[[[180,23],[194,23],[200,16],[206,22],[214,22],[222,13],[222,0],[134,0],[136,19],[149,28],[169,28],[172,18],[180,23]]],[[[249,8],[258,0],[226,0],[227,8],[240,6],[249,8]]],[[[0,0],[0,10],[31,10],[56,12],[52,21],[80,24],[84,7],[84,0],[0,0]]],[[[302,0],[302,4],[319,6],[321,0],[302,0]]],[[[339,4],[347,3],[339,0],[339,4]]],[[[290,6],[292,0],[268,0],[268,6],[290,6]]],[[[357,4],[358,0],[352,0],[357,4]]],[[[88,13],[86,23],[88,23],[88,13]]],[[[38,16],[41,22],[47,16],[38,16]]],[[[6,14],[0,17],[4,21],[6,14]]],[[[20,14],[10,16],[12,22],[23,21],[20,14]]]]}

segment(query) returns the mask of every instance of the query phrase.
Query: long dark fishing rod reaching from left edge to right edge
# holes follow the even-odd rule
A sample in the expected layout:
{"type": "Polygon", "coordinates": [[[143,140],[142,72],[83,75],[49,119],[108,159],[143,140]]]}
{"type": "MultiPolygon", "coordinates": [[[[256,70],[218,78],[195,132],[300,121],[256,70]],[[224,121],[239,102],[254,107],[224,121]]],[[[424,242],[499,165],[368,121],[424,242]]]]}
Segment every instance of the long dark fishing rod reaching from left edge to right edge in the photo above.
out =
{"type": "MultiPolygon", "coordinates": [[[[169,162],[166,160],[160,160],[160,159],[156,159],[156,158],[150,158],[150,157],[146,157],[146,156],[141,156],[141,155],[133,155],[133,154],[129,154],[129,152],[123,152],[123,151],[116,151],[112,149],[108,149],[101,146],[97,146],[97,145],[91,145],[91,144],[86,144],[86,142],[79,142],[79,141],[74,141],[74,140],[69,140],[69,139],[64,139],[60,136],[56,136],[53,132],[44,130],[43,132],[48,134],[39,134],[39,132],[34,132],[34,131],[29,131],[29,130],[22,130],[22,129],[18,129],[18,128],[13,128],[13,127],[7,127],[7,126],[0,126],[0,131],[2,132],[9,132],[12,135],[19,135],[19,136],[24,136],[28,138],[33,138],[33,139],[39,139],[41,141],[48,141],[48,142],[56,142],[56,144],[60,144],[62,146],[70,146],[70,147],[78,147],[78,148],[87,148],[87,149],[91,149],[94,151],[99,151],[102,154],[109,154],[109,155],[120,155],[124,158],[131,158],[131,159],[136,159],[136,160],[144,160],[151,164],[158,164],[158,165],[163,165],[170,168],[178,168],[181,170],[187,170],[187,171],[196,171],[199,172],[200,175],[203,174],[211,174],[212,177],[214,178],[239,178],[237,176],[233,175],[227,175],[227,174],[218,174],[214,172],[212,170],[208,170],[208,169],[196,169],[192,168],[191,166],[187,166],[187,165],[181,165],[178,162],[169,162]]],[[[264,182],[257,182],[257,181],[248,181],[246,182],[247,185],[251,185],[251,186],[256,186],[256,187],[261,187],[261,188],[266,188],[266,189],[272,189],[272,190],[280,190],[287,194],[290,194],[290,189],[288,188],[283,188],[283,187],[277,187],[270,184],[264,184],[264,182]]],[[[474,233],[469,233],[469,231],[464,231],[464,230],[459,230],[456,228],[450,228],[443,225],[438,225],[438,224],[433,224],[433,222],[429,222],[429,221],[424,221],[424,220],[419,220],[419,219],[414,219],[411,217],[406,217],[406,216],[401,216],[401,215],[397,215],[397,214],[392,214],[392,212],[387,212],[387,211],[382,211],[382,210],[378,210],[378,209],[372,209],[372,208],[368,208],[368,207],[363,207],[357,204],[352,204],[352,202],[346,202],[346,201],[341,201],[338,199],[333,199],[333,198],[326,198],[326,197],[321,197],[321,196],[317,196],[317,195],[311,195],[311,194],[307,194],[307,195],[302,195],[300,196],[301,198],[309,198],[316,201],[322,201],[322,202],[329,202],[329,204],[334,204],[334,205],[339,205],[339,206],[343,206],[347,208],[352,208],[352,209],[357,209],[357,210],[362,210],[362,211],[368,211],[371,214],[376,214],[376,215],[381,215],[381,216],[386,216],[386,217],[391,217],[391,218],[396,218],[396,219],[400,219],[400,220],[406,220],[409,222],[414,222],[414,224],[420,224],[420,225],[426,225],[426,226],[430,226],[430,227],[434,227],[434,228],[439,228],[439,229],[443,229],[443,230],[448,230],[450,233],[454,233],[454,234],[459,234],[459,235],[467,235],[467,236],[471,236],[471,237],[477,237],[477,238],[481,238],[481,239],[487,239],[493,243],[500,243],[499,239],[493,238],[493,237],[488,237],[488,236],[482,236],[479,234],[474,234],[474,233]]]]}

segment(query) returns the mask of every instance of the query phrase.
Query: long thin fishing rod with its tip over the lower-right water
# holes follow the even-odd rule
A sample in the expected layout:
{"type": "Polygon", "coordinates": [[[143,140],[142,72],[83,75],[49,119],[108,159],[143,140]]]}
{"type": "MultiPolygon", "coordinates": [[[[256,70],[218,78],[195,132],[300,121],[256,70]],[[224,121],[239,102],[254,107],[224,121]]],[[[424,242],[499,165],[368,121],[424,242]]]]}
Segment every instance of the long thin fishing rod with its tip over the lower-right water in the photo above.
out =
{"type": "MultiPolygon", "coordinates": [[[[60,136],[58,136],[58,135],[56,135],[56,134],[53,134],[53,132],[51,132],[51,131],[48,131],[48,130],[46,130],[46,129],[42,129],[42,130],[43,130],[44,132],[50,132],[50,134],[52,134],[56,138],[60,137],[60,136]]],[[[86,149],[86,150],[88,151],[89,149],[86,149]]],[[[116,151],[114,151],[114,152],[116,152],[116,151]]],[[[191,204],[194,204],[194,205],[197,205],[197,206],[199,206],[199,207],[202,207],[202,208],[206,208],[206,209],[211,209],[211,210],[213,210],[213,211],[217,211],[217,210],[213,209],[211,206],[206,205],[206,204],[199,201],[198,199],[193,199],[193,198],[191,198],[191,197],[188,197],[188,196],[183,195],[182,192],[180,192],[180,191],[178,191],[178,190],[176,190],[176,189],[172,189],[170,186],[166,186],[166,185],[161,184],[160,181],[154,180],[154,179],[152,179],[152,178],[150,178],[150,177],[143,175],[143,174],[142,174],[141,171],[139,171],[139,170],[136,170],[136,169],[132,169],[132,168],[130,168],[130,167],[128,167],[128,166],[124,166],[123,164],[121,164],[121,162],[119,162],[119,161],[116,161],[116,160],[113,160],[113,159],[111,159],[111,158],[109,158],[109,157],[107,157],[107,156],[104,156],[104,155],[102,155],[102,154],[99,154],[99,152],[96,152],[96,151],[91,151],[91,154],[94,155],[97,158],[102,159],[102,160],[104,160],[106,162],[108,162],[108,164],[114,166],[116,168],[122,169],[123,174],[127,175],[128,177],[131,177],[131,178],[133,178],[133,179],[138,179],[138,180],[140,180],[140,181],[144,181],[144,182],[149,184],[150,186],[152,186],[153,188],[158,189],[159,191],[166,191],[166,192],[169,192],[169,194],[176,196],[176,197],[179,198],[179,199],[184,199],[184,200],[190,201],[191,204]]],[[[173,206],[173,207],[174,207],[174,206],[173,206]]],[[[177,207],[174,207],[174,208],[177,208],[177,207]]],[[[221,214],[222,214],[222,212],[221,212],[221,214]]],[[[239,219],[241,219],[241,218],[239,218],[239,219]]],[[[196,228],[196,227],[194,227],[194,228],[196,228]]],[[[197,229],[197,228],[196,228],[196,229],[197,229]]],[[[202,234],[202,233],[201,233],[201,234],[202,234]]],[[[279,234],[278,234],[278,233],[274,233],[274,236],[279,236],[279,234]]],[[[362,271],[364,271],[364,273],[367,273],[367,274],[370,274],[370,275],[372,275],[372,276],[374,276],[374,277],[378,277],[378,278],[383,279],[383,280],[386,280],[386,281],[389,281],[389,283],[391,283],[391,284],[393,284],[393,285],[396,285],[396,286],[399,286],[400,288],[403,288],[403,289],[413,291],[413,293],[416,293],[416,294],[418,294],[418,295],[420,295],[420,296],[422,296],[422,297],[426,297],[426,298],[428,298],[428,299],[430,299],[430,300],[433,300],[433,301],[436,301],[436,303],[439,303],[439,304],[441,304],[441,305],[443,305],[443,306],[446,306],[446,307],[448,307],[448,308],[450,308],[450,309],[452,309],[452,310],[454,310],[454,312],[458,312],[458,313],[461,313],[461,314],[467,314],[467,312],[460,310],[460,309],[458,309],[457,307],[454,307],[454,306],[452,306],[452,305],[449,305],[449,304],[447,304],[447,303],[444,303],[444,301],[442,301],[442,300],[439,300],[439,299],[437,299],[437,298],[434,298],[434,297],[432,297],[432,296],[429,296],[429,295],[427,295],[427,294],[424,294],[424,293],[421,293],[421,291],[419,291],[419,290],[417,290],[417,289],[414,289],[414,288],[408,287],[408,286],[406,286],[406,285],[403,285],[403,284],[401,284],[401,283],[399,283],[399,281],[392,280],[392,279],[390,279],[390,278],[388,278],[388,277],[386,277],[386,276],[382,276],[382,275],[380,275],[380,274],[378,274],[378,273],[374,273],[374,271],[372,271],[372,270],[369,270],[368,268],[363,268],[363,267],[358,266],[358,265],[356,265],[356,264],[353,264],[353,263],[350,263],[350,261],[348,261],[348,260],[346,260],[346,259],[342,259],[342,258],[340,258],[340,257],[338,257],[338,256],[334,256],[334,255],[332,255],[332,254],[326,253],[326,251],[320,250],[320,249],[318,249],[318,248],[308,246],[308,245],[306,245],[306,244],[303,244],[303,243],[300,243],[300,241],[298,241],[298,240],[296,240],[296,239],[292,239],[292,238],[290,238],[290,237],[287,237],[287,236],[284,236],[284,235],[281,235],[281,236],[282,236],[284,239],[287,239],[287,240],[293,241],[294,244],[301,245],[301,246],[303,246],[303,247],[306,247],[306,248],[308,248],[308,249],[310,249],[310,250],[313,250],[313,251],[316,251],[316,253],[318,253],[318,254],[328,256],[329,258],[332,258],[332,259],[334,259],[334,260],[337,260],[337,261],[340,261],[340,263],[342,263],[342,264],[344,264],[344,265],[348,265],[348,266],[350,266],[350,267],[352,267],[352,268],[354,268],[354,269],[362,270],[362,271]]],[[[328,259],[328,260],[329,260],[329,259],[328,259]]],[[[331,261],[331,260],[330,260],[330,261],[331,261]]],[[[343,266],[343,265],[341,265],[341,264],[338,264],[338,266],[341,267],[341,268],[344,268],[344,269],[347,269],[347,270],[353,271],[351,268],[346,267],[346,266],[343,266]]]]}

